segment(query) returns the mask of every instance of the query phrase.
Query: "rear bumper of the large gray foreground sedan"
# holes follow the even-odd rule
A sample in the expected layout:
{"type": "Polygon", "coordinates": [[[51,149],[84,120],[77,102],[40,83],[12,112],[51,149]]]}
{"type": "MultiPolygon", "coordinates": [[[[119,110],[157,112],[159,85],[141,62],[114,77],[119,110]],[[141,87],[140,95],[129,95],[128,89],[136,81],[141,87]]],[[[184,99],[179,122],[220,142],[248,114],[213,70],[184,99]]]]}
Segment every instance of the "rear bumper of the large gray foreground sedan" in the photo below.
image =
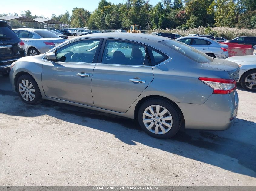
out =
{"type": "Polygon", "coordinates": [[[236,119],[238,94],[212,94],[204,104],[177,103],[180,107],[186,129],[226,130],[236,119]]]}

